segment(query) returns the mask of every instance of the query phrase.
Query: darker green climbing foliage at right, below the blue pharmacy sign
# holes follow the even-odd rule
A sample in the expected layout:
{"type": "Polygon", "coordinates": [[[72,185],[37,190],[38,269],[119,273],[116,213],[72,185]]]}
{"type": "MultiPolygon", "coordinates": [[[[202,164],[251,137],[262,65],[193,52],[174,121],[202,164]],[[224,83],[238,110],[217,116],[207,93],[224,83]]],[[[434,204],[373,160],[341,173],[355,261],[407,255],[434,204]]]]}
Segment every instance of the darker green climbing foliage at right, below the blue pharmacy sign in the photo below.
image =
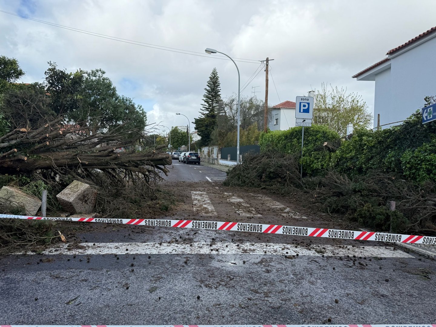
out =
{"type": "Polygon", "coordinates": [[[354,129],[331,154],[331,166],[347,174],[382,170],[422,183],[436,176],[436,123],[421,123],[421,112],[388,129],[354,129]]]}

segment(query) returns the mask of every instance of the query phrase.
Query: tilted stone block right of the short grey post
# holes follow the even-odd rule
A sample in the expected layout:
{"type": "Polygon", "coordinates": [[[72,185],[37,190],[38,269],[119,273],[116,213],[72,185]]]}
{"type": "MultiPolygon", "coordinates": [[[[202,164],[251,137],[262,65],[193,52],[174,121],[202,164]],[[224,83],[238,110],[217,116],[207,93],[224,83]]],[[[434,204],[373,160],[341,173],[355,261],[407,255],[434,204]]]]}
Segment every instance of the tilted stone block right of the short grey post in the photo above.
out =
{"type": "Polygon", "coordinates": [[[89,213],[94,210],[97,192],[88,184],[73,181],[56,195],[62,208],[75,213],[89,213]]]}

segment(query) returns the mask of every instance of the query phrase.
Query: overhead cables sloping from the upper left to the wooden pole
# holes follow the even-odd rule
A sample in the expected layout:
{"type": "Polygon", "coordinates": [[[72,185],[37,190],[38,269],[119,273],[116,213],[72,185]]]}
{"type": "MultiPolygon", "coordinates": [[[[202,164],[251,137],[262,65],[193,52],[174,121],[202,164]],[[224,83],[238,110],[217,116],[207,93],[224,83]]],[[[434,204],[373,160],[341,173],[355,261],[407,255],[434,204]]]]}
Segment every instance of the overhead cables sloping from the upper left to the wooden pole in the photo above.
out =
{"type": "MultiPolygon", "coordinates": [[[[228,61],[230,60],[227,57],[221,56],[221,55],[212,55],[212,56],[211,55],[203,55],[202,52],[189,51],[189,50],[183,50],[183,49],[177,49],[177,48],[170,48],[170,47],[165,47],[165,46],[157,45],[157,44],[150,44],[150,43],[145,43],[145,42],[140,42],[140,41],[133,41],[133,40],[129,40],[129,39],[121,38],[121,37],[110,36],[110,35],[106,35],[106,34],[99,34],[99,33],[91,32],[91,31],[81,30],[81,29],[78,29],[75,27],[68,27],[65,25],[55,24],[55,23],[44,21],[44,20],[39,20],[39,19],[27,17],[27,16],[22,16],[22,15],[10,13],[9,11],[5,11],[5,10],[0,10],[0,12],[5,13],[5,14],[9,14],[12,16],[24,18],[27,20],[33,20],[37,23],[46,24],[46,25],[50,25],[50,26],[54,26],[54,27],[59,27],[59,28],[65,29],[65,30],[74,31],[74,32],[82,33],[82,34],[88,34],[88,35],[92,35],[92,36],[96,36],[96,37],[101,37],[101,38],[105,38],[105,39],[112,40],[112,41],[119,41],[119,42],[128,43],[128,44],[140,45],[140,46],[146,47],[146,48],[153,48],[153,49],[177,52],[177,53],[182,53],[182,54],[190,54],[190,55],[198,56],[198,57],[215,58],[215,59],[228,60],[228,61]],[[184,52],[182,52],[182,51],[184,51],[184,52]],[[223,57],[223,58],[221,58],[221,57],[223,57]]],[[[252,64],[253,63],[257,64],[259,62],[259,60],[254,60],[254,59],[245,59],[245,58],[235,58],[235,59],[240,59],[240,60],[235,60],[238,62],[247,62],[247,63],[252,63],[252,64]]]]}

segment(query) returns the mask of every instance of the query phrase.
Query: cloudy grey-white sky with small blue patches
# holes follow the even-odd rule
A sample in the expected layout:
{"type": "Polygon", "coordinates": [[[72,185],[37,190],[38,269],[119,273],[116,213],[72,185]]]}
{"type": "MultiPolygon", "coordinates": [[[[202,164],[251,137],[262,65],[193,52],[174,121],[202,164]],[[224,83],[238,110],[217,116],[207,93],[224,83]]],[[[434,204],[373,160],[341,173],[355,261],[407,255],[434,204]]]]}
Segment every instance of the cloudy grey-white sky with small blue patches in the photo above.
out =
{"type": "Polygon", "coordinates": [[[242,95],[259,86],[264,99],[259,60],[269,57],[269,104],[328,82],[361,94],[371,111],[374,82],[351,76],[436,25],[425,14],[436,12],[434,0],[0,0],[0,10],[82,30],[0,12],[0,54],[18,59],[22,82],[41,81],[47,61],[68,71],[102,68],[150,123],[170,127],[187,124],[176,112],[198,117],[212,68],[223,96],[238,91],[233,63],[204,48],[242,58],[241,85],[257,74],[242,95]]]}

